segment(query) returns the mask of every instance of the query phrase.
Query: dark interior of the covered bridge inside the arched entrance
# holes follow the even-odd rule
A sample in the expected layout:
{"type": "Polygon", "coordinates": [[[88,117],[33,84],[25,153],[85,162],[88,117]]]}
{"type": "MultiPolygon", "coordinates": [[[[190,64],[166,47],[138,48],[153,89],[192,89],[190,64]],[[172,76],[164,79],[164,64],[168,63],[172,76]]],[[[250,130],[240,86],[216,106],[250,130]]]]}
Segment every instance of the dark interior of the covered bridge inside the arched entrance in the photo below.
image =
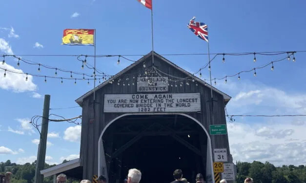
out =
{"type": "Polygon", "coordinates": [[[142,183],[170,183],[175,169],[190,183],[197,173],[205,176],[207,136],[185,116],[125,116],[102,139],[109,183],[123,183],[130,168],[142,171],[142,183]]]}

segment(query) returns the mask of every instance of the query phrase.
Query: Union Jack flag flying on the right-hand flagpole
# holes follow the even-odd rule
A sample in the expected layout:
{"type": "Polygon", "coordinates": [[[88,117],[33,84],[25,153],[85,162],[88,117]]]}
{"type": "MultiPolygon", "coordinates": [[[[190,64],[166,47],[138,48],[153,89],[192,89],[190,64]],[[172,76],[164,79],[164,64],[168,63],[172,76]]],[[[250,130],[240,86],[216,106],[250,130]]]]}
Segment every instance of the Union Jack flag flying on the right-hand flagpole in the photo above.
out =
{"type": "Polygon", "coordinates": [[[197,22],[194,21],[196,17],[193,17],[190,21],[189,24],[187,25],[188,28],[197,36],[200,37],[201,39],[205,40],[208,42],[208,29],[207,25],[202,22],[197,22]]]}

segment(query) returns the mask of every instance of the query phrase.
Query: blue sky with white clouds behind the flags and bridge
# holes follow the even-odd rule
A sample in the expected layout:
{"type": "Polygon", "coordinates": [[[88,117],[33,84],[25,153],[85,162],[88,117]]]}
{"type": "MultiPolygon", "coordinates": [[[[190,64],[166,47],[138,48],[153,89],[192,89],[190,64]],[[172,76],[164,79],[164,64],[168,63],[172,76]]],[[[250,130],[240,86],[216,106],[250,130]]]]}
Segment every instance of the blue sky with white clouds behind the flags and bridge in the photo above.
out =
{"type": "MultiPolygon", "coordinates": [[[[97,30],[98,55],[146,55],[151,50],[150,10],[137,0],[65,0],[0,1],[0,55],[91,55],[93,47],[61,45],[66,28],[97,30]],[[13,8],[12,8],[13,7],[13,8]],[[75,16],[73,16],[75,15],[75,16]],[[37,44],[36,44],[37,43],[37,44]]],[[[306,2],[295,0],[154,0],[154,50],[163,54],[207,53],[207,44],[187,29],[196,16],[209,28],[211,53],[275,52],[306,50],[306,2]]],[[[223,77],[258,67],[286,55],[218,56],[212,63],[212,76],[223,77]]],[[[137,60],[141,56],[127,56],[137,60]]],[[[193,73],[205,65],[206,55],[165,56],[193,73]]],[[[229,114],[306,114],[306,53],[295,54],[296,62],[284,60],[253,73],[217,80],[217,88],[233,98],[227,105],[229,114]]],[[[66,70],[81,70],[76,57],[22,56],[66,70]]],[[[2,59],[2,58],[1,58],[2,59]]],[[[93,65],[93,59],[87,59],[93,65]]],[[[97,68],[108,74],[121,71],[131,62],[118,57],[97,58],[97,68]]],[[[17,61],[6,58],[5,67],[18,69],[17,61]],[[7,65],[8,64],[8,65],[7,65]],[[14,67],[14,68],[12,68],[14,67]]],[[[0,65],[0,67],[4,67],[0,65]]],[[[24,73],[38,73],[37,66],[20,63],[24,73]]],[[[41,68],[41,75],[54,75],[54,70],[41,68]]],[[[202,72],[208,76],[208,70],[202,72]]],[[[58,72],[59,77],[70,73],[58,72]]],[[[82,77],[82,76],[81,76],[82,77]]],[[[93,83],[34,77],[25,82],[21,74],[0,71],[0,161],[25,163],[35,160],[39,134],[27,123],[42,114],[44,94],[51,95],[51,108],[77,106],[75,99],[91,90],[93,83]],[[23,133],[23,134],[22,134],[23,133]]],[[[64,117],[81,115],[81,108],[51,110],[64,117]]],[[[229,141],[234,160],[271,161],[276,165],[306,164],[306,130],[302,117],[251,118],[236,117],[228,123],[229,141]],[[245,138],[241,138],[244,136],[245,138]],[[242,140],[243,139],[243,140],[242,140]],[[256,139],[256,140],[254,140],[256,139]],[[254,147],[255,150],[254,150],[254,147]],[[272,151],[265,149],[271,148],[272,151]],[[253,149],[253,150],[252,150],[253,149]],[[304,154],[294,158],[294,154],[304,154]]],[[[73,159],[80,150],[81,127],[69,123],[49,124],[49,163],[73,159]],[[53,138],[52,138],[53,137],[53,138]]]]}

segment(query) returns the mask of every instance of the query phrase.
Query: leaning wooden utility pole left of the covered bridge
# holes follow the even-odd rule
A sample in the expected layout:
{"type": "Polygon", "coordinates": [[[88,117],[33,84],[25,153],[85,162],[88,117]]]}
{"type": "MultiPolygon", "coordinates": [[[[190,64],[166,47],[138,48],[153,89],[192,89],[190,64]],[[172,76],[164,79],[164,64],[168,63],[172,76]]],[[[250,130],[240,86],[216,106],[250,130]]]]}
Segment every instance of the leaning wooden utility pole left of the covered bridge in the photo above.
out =
{"type": "Polygon", "coordinates": [[[44,168],[44,162],[46,157],[49,110],[50,110],[50,95],[44,95],[42,121],[41,121],[41,138],[40,138],[40,144],[38,145],[34,183],[43,183],[43,175],[41,175],[41,170],[44,168]]]}

